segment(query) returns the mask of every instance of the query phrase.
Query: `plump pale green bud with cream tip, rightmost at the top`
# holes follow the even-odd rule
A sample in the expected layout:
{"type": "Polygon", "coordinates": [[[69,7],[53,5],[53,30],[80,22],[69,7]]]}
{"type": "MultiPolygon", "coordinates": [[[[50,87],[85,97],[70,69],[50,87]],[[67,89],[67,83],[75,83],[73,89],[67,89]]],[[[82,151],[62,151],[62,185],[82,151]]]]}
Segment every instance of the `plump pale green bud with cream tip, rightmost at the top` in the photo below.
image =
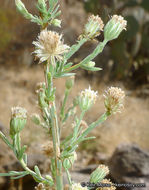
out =
{"type": "Polygon", "coordinates": [[[104,28],[105,40],[116,39],[123,30],[126,30],[127,21],[122,16],[113,15],[104,28]]]}

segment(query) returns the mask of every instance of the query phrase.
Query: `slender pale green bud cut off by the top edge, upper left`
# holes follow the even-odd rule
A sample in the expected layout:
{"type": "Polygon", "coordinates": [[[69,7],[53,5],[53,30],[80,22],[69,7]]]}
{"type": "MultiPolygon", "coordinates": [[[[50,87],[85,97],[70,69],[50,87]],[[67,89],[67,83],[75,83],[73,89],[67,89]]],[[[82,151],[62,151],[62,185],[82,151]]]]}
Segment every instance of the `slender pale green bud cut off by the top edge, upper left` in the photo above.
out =
{"type": "Polygon", "coordinates": [[[25,5],[22,3],[21,0],[15,0],[16,7],[18,11],[27,19],[32,19],[32,14],[30,14],[27,9],[25,8],[25,5]]]}

